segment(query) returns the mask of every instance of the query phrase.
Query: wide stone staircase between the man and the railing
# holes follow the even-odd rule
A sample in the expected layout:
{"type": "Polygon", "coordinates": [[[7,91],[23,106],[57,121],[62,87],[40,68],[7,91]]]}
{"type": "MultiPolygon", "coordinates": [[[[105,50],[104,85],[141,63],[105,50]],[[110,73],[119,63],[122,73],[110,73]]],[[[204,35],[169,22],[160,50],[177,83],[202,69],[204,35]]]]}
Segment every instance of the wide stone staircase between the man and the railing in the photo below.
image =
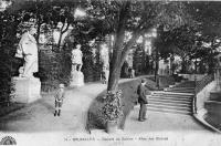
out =
{"type": "Polygon", "coordinates": [[[147,109],[175,114],[192,114],[193,82],[183,82],[165,91],[154,92],[147,109]]]}

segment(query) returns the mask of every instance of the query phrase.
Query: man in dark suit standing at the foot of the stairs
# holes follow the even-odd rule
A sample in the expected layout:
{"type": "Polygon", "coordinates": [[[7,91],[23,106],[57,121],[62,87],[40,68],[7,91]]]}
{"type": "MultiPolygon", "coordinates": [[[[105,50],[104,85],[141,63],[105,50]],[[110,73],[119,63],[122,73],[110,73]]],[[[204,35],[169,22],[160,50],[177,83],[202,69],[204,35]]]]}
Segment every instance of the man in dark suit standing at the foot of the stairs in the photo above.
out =
{"type": "Polygon", "coordinates": [[[139,117],[138,117],[139,122],[144,122],[146,119],[146,111],[147,111],[146,104],[148,104],[146,98],[146,87],[145,87],[146,82],[147,81],[143,79],[141,84],[139,84],[137,88],[138,103],[140,104],[139,117]]]}

